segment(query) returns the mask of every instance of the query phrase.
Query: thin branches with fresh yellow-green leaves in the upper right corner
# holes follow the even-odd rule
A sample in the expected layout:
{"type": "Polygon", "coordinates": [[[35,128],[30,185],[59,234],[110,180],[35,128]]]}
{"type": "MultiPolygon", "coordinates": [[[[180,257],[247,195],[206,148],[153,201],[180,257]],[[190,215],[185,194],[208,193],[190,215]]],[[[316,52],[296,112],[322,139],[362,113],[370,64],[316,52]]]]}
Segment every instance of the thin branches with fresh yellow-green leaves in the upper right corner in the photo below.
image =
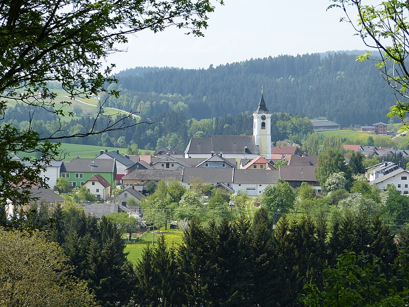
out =
{"type": "MultiPolygon", "coordinates": [[[[396,104],[391,107],[389,117],[399,116],[402,121],[409,111],[409,70],[407,55],[409,51],[409,22],[405,18],[409,14],[406,1],[390,0],[379,4],[363,5],[360,0],[332,0],[330,7],[340,7],[346,17],[342,20],[352,25],[363,43],[376,50],[376,55],[366,52],[358,57],[360,61],[371,59],[377,61],[376,66],[383,79],[396,92],[396,104]],[[354,13],[351,13],[350,9],[354,13]],[[357,21],[351,15],[357,14],[357,21]],[[399,98],[400,97],[400,98],[399,98]],[[401,101],[401,99],[406,101],[401,101]]],[[[407,124],[403,121],[403,129],[407,124]]]]}

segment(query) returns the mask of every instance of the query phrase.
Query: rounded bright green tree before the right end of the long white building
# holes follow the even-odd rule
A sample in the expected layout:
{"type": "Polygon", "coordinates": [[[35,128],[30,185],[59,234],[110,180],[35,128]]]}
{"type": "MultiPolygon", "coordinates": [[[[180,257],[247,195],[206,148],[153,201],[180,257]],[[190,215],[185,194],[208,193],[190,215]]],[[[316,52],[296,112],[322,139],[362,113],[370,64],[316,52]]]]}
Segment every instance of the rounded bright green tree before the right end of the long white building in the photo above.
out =
{"type": "Polygon", "coordinates": [[[296,193],[290,184],[279,180],[275,185],[265,187],[261,195],[261,205],[272,213],[287,212],[294,207],[296,193]]]}

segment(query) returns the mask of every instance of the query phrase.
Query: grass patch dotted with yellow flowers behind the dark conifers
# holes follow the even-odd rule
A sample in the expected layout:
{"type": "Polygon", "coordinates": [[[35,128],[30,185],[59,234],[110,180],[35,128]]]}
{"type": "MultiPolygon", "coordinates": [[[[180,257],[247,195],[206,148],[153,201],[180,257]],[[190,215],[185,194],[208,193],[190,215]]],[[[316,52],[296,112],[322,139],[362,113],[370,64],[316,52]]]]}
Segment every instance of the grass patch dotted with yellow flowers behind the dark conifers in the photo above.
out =
{"type": "MultiPolygon", "coordinates": [[[[180,244],[183,240],[183,231],[176,229],[161,230],[165,235],[166,243],[180,244]]],[[[137,264],[138,259],[141,259],[142,252],[147,245],[152,245],[152,231],[145,232],[135,243],[130,243],[125,246],[125,252],[128,252],[128,260],[132,264],[137,264]]],[[[158,238],[158,234],[155,233],[155,240],[158,238]]]]}

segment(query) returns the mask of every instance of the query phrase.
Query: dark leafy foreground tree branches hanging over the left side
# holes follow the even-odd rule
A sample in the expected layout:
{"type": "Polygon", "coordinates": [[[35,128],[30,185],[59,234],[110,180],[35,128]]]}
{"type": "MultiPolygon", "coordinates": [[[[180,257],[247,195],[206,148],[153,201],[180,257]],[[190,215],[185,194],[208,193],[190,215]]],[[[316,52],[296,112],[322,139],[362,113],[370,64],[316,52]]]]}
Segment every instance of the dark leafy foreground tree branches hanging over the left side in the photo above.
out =
{"type": "MultiPolygon", "coordinates": [[[[222,3],[222,1],[220,1],[222,3]]],[[[208,24],[208,14],[214,11],[210,0],[195,1],[86,1],[48,2],[24,0],[3,2],[0,6],[0,116],[7,114],[7,101],[27,104],[30,123],[26,130],[12,124],[0,125],[0,205],[28,203],[31,185],[46,185],[39,176],[49,161],[59,156],[59,141],[86,137],[107,131],[121,130],[143,123],[134,111],[124,115],[107,116],[103,113],[106,98],[118,96],[115,89],[106,89],[115,83],[110,64],[104,69],[107,55],[119,51],[119,44],[127,42],[127,34],[145,29],[160,32],[170,26],[187,29],[188,33],[202,35],[208,24]],[[57,93],[50,84],[60,83],[69,99],[56,100],[57,93]],[[73,116],[64,106],[76,97],[100,97],[97,115],[86,131],[66,134],[64,116],[73,116]],[[36,114],[46,110],[56,115],[59,126],[51,133],[33,128],[36,114]],[[98,128],[97,128],[98,127],[98,128]],[[41,159],[23,158],[9,161],[17,152],[40,152],[41,159]],[[5,162],[7,161],[7,162],[5,162]]]]}

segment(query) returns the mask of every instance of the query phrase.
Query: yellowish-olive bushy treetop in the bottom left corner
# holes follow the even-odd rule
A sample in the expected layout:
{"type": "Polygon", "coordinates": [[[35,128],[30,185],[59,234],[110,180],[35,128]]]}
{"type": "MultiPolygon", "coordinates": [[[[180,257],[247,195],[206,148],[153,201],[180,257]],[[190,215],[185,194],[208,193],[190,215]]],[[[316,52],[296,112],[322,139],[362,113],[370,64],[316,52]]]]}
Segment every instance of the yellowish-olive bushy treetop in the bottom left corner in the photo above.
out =
{"type": "Polygon", "coordinates": [[[2,306],[96,306],[83,280],[56,243],[39,231],[0,228],[0,304],[2,306]]]}

